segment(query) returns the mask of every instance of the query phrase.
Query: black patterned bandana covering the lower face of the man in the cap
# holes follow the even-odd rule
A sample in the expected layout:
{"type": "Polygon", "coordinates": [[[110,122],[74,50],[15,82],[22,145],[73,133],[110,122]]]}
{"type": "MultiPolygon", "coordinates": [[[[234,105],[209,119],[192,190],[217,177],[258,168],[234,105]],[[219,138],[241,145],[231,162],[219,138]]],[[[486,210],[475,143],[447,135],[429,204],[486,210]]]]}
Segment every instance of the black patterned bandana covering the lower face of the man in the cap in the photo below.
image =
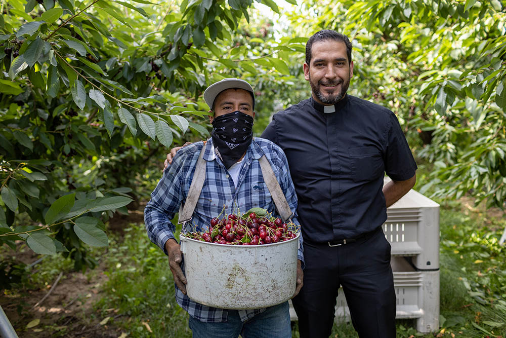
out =
{"type": "Polygon", "coordinates": [[[244,154],[253,138],[253,118],[239,110],[221,115],[213,121],[213,144],[228,169],[244,154]]]}

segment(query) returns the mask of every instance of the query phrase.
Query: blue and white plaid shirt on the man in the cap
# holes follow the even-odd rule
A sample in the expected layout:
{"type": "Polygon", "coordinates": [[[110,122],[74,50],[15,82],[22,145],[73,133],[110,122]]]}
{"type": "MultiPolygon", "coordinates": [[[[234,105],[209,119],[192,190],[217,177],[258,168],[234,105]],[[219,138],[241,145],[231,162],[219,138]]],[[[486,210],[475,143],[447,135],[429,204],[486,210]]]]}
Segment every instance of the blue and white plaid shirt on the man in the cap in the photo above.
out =
{"type": "MultiPolygon", "coordinates": [[[[191,221],[197,226],[197,231],[207,230],[211,218],[222,213],[224,205],[227,214],[236,213],[238,210],[246,212],[253,207],[264,208],[274,215],[277,214],[258,161],[264,154],[269,160],[288,205],[294,214],[292,221],[299,224],[296,211],[297,195],[291,180],[286,156],[279,146],[263,138],[254,138],[242,160],[236,189],[232,177],[230,177],[223,162],[214,152],[213,140],[209,139],[207,143],[208,146],[203,155],[203,159],[206,161],[206,176],[191,221]]],[[[163,177],[151,193],[151,200],[144,209],[144,220],[149,239],[158,245],[165,254],[167,254],[165,242],[174,238],[174,231],[176,230],[170,220],[179,211],[181,203],[186,200],[202,146],[203,142],[193,143],[185,146],[176,154],[172,165],[164,170],[163,177]]],[[[302,236],[300,236],[301,245],[297,256],[304,267],[302,243],[302,236]]],[[[176,301],[190,316],[202,322],[220,323],[227,321],[228,310],[207,307],[193,302],[177,286],[176,301]]],[[[263,311],[265,309],[239,310],[239,316],[242,321],[246,321],[263,311]]]]}

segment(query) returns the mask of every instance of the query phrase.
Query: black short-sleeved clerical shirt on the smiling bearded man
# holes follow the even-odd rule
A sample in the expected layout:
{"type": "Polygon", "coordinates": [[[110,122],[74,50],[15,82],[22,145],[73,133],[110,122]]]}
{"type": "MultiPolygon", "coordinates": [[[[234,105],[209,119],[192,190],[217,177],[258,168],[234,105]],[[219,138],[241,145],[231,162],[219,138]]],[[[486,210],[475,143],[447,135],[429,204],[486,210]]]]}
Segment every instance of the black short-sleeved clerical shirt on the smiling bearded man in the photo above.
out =
{"type": "Polygon", "coordinates": [[[387,219],[385,172],[415,174],[416,163],[389,109],[346,95],[331,106],[312,98],[278,112],[262,134],[286,154],[304,240],[356,238],[387,219]]]}

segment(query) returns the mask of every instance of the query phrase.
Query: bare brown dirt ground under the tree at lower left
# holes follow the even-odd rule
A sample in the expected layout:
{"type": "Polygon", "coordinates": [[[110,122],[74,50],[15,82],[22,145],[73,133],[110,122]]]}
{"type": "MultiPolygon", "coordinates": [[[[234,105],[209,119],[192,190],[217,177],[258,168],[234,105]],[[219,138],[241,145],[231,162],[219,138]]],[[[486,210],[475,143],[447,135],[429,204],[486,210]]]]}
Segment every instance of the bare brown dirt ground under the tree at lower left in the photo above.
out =
{"type": "MultiPolygon", "coordinates": [[[[109,229],[121,235],[123,224],[143,221],[142,211],[130,210],[128,215],[115,215],[109,221],[109,229]]],[[[13,259],[29,265],[39,255],[24,246],[13,259]]],[[[115,309],[108,309],[106,314],[93,309],[93,304],[103,297],[105,270],[105,265],[100,264],[86,274],[69,272],[57,276],[46,288],[2,292],[0,305],[20,338],[123,338],[125,332],[107,323],[120,317],[115,309]]]]}

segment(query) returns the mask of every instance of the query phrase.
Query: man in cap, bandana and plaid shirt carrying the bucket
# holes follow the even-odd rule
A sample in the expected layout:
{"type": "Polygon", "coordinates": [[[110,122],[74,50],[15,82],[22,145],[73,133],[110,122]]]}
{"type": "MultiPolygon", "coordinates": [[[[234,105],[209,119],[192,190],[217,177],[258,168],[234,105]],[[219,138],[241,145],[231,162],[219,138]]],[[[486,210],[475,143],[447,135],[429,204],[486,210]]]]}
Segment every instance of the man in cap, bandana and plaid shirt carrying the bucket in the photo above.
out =
{"type": "MultiPolygon", "coordinates": [[[[187,199],[197,158],[203,146],[206,161],[205,180],[193,213],[195,231],[206,231],[213,217],[260,207],[275,214],[274,201],[264,183],[259,159],[265,155],[276,175],[294,217],[297,196],[286,157],[269,140],[252,137],[255,97],[251,86],[239,79],[224,79],[204,92],[209,105],[212,137],[185,147],[163,172],[151,200],[144,210],[149,239],[168,255],[176,284],[176,300],[186,310],[193,337],[291,337],[288,302],[266,309],[226,310],[198,304],[186,295],[187,280],[180,267],[182,254],[170,221],[187,199]]],[[[302,287],[304,258],[302,238],[298,252],[297,294],[302,287]]],[[[223,264],[227,264],[226,261],[223,264]]],[[[275,273],[275,272],[274,272],[275,273]]],[[[219,297],[219,295],[216,295],[219,297]]],[[[259,297],[262,295],[260,294],[259,297]]]]}

